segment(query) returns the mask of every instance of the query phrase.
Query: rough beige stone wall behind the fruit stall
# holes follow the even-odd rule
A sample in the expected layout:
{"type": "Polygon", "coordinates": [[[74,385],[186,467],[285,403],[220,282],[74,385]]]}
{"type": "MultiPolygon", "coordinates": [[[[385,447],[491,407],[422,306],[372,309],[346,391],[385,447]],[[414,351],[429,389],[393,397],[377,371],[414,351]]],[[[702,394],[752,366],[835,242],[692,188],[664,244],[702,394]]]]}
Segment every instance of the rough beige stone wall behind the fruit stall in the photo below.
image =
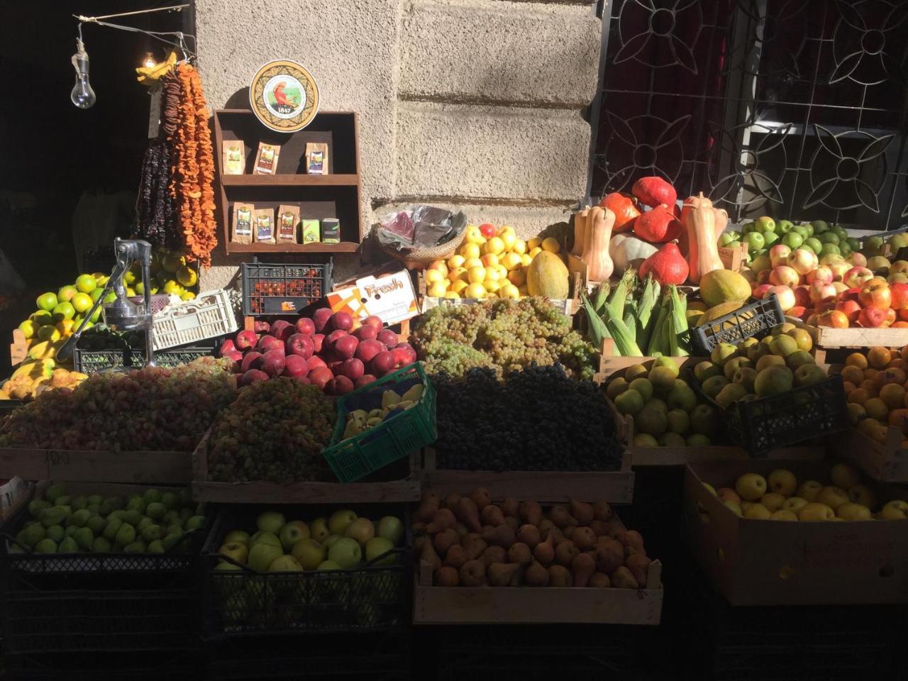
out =
{"type": "MultiPolygon", "coordinates": [[[[213,108],[248,105],[259,66],[290,58],[322,108],[360,115],[364,224],[412,201],[526,236],[564,220],[587,191],[600,31],[585,0],[196,0],[213,108]]],[[[202,286],[241,260],[219,249],[202,286]]]]}

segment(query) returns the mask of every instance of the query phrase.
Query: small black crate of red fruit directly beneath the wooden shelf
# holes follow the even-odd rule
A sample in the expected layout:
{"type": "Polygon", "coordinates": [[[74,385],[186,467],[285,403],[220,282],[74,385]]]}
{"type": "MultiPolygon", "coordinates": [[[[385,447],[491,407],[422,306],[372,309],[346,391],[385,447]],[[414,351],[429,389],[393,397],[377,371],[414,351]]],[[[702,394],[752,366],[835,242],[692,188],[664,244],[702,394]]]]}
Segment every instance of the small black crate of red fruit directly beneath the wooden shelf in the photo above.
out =
{"type": "Polygon", "coordinates": [[[296,314],[310,306],[331,291],[332,263],[243,262],[243,315],[296,314]]]}

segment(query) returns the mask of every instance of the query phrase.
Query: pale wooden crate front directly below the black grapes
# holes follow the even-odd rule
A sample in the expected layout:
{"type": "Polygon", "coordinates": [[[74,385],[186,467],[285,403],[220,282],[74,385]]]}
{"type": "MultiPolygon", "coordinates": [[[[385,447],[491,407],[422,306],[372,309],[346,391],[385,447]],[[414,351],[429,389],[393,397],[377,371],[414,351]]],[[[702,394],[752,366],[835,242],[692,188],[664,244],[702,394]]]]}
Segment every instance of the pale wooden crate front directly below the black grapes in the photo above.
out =
{"type": "Polygon", "coordinates": [[[419,479],[423,489],[439,495],[458,494],[478,487],[495,489],[502,497],[545,498],[565,501],[569,498],[603,498],[609,503],[629,504],[634,500],[634,473],[625,455],[621,470],[445,470],[436,467],[436,452],[422,452],[419,479]]]}

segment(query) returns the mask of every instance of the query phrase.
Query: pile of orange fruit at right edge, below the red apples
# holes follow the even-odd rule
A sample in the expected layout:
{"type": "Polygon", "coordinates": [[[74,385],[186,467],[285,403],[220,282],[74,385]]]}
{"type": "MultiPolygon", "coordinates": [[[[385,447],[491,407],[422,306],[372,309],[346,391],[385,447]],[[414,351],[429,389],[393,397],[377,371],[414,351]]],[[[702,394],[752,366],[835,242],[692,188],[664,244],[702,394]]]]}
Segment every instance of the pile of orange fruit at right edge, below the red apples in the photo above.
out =
{"type": "Polygon", "coordinates": [[[902,350],[870,348],[853,352],[839,370],[852,425],[877,442],[886,441],[887,426],[903,433],[908,449],[908,345],[902,350]]]}

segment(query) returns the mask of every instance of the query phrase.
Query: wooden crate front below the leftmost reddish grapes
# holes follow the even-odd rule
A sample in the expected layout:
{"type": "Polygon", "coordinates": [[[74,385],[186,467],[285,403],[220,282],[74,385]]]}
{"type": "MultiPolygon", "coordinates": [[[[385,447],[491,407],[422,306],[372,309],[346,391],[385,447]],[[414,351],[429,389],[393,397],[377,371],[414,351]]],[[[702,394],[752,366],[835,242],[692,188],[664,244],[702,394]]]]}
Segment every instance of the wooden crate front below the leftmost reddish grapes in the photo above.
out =
{"type": "Polygon", "coordinates": [[[0,476],[27,480],[188,484],[188,451],[0,449],[0,476]]]}

